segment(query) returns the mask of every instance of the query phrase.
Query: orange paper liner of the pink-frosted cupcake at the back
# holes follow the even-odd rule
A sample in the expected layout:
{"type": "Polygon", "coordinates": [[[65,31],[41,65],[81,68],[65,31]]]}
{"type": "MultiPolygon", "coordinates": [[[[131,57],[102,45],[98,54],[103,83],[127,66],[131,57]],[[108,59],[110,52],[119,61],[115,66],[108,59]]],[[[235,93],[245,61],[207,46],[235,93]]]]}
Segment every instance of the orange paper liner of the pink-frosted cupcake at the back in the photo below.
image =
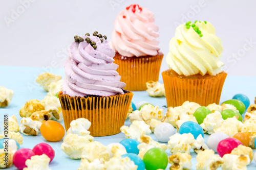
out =
{"type": "Polygon", "coordinates": [[[116,53],[114,63],[118,64],[117,72],[121,82],[126,83],[125,90],[146,90],[146,82],[158,81],[163,54],[157,56],[123,57],[116,53]]]}

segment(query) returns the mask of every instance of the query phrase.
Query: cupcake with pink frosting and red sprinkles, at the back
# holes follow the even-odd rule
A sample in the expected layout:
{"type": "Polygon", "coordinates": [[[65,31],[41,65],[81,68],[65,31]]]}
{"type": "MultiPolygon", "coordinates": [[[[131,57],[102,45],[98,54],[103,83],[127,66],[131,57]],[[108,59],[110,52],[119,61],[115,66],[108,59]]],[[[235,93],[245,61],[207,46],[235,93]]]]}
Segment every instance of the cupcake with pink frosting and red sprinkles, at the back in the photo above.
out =
{"type": "Polygon", "coordinates": [[[146,90],[147,81],[158,81],[163,54],[157,37],[154,14],[147,8],[131,5],[117,15],[110,46],[124,89],[146,90]]]}

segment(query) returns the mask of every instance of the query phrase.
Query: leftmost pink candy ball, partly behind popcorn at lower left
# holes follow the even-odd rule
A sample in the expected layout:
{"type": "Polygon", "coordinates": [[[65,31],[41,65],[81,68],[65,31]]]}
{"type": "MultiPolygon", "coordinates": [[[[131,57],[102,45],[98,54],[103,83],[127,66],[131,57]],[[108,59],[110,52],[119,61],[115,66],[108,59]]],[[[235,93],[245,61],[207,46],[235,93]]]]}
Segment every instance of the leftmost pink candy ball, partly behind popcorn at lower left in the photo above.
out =
{"type": "Polygon", "coordinates": [[[31,156],[34,156],[34,152],[31,149],[19,149],[13,155],[13,164],[18,169],[23,169],[27,167],[25,164],[27,159],[30,159],[31,156]]]}

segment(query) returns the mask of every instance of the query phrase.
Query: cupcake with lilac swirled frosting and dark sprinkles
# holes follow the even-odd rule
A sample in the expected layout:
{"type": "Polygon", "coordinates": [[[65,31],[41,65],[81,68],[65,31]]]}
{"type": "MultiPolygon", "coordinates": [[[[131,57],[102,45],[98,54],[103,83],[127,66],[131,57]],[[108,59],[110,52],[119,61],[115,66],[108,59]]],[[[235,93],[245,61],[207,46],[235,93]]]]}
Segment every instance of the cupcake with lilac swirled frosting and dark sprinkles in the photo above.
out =
{"type": "Polygon", "coordinates": [[[66,130],[72,120],[84,117],[92,123],[93,136],[120,132],[133,93],[123,90],[125,83],[120,82],[114,56],[106,36],[98,32],[75,36],[59,93],[66,130]]]}

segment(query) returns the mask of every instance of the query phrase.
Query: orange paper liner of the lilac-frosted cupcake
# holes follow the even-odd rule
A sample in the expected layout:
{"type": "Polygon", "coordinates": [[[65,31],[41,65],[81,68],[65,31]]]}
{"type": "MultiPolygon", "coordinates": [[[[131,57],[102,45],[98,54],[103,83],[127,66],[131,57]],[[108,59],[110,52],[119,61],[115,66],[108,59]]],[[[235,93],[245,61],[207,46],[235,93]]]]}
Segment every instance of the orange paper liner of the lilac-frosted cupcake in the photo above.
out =
{"type": "Polygon", "coordinates": [[[62,94],[60,91],[58,96],[66,131],[70,128],[72,120],[83,117],[92,123],[89,129],[90,135],[108,136],[120,133],[133,93],[128,91],[113,96],[80,98],[62,94]]]}

